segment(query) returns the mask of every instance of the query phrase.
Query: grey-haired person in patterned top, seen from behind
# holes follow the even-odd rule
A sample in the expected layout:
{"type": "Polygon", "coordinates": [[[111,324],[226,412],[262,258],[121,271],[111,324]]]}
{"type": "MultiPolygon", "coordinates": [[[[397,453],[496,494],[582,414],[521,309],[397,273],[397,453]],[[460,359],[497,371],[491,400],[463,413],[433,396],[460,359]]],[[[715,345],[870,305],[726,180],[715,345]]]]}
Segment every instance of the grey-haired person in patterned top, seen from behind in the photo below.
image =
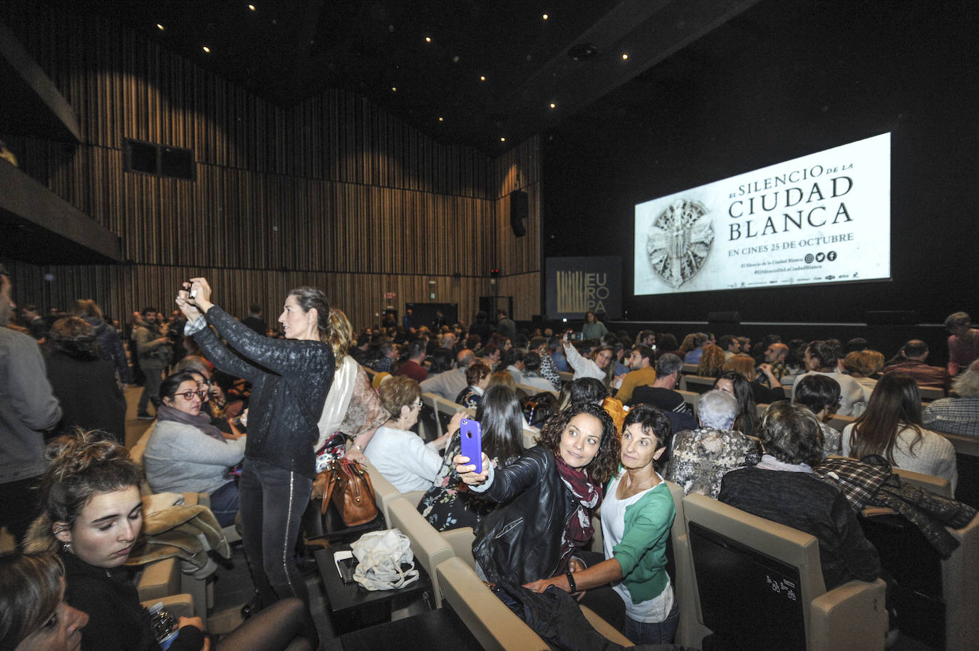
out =
{"type": "Polygon", "coordinates": [[[700,427],[674,437],[666,479],[684,493],[699,492],[717,498],[724,473],[753,466],[762,458],[758,441],[732,430],[738,414],[733,395],[715,389],[700,396],[700,427]]]}

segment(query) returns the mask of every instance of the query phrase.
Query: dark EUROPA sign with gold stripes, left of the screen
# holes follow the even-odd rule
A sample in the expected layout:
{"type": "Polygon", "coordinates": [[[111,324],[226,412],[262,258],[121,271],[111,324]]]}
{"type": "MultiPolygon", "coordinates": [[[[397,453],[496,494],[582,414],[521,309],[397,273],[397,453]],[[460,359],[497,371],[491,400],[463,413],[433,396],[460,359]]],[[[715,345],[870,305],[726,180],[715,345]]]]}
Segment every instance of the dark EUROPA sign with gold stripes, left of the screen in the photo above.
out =
{"type": "Polygon", "coordinates": [[[585,312],[622,316],[622,258],[548,257],[547,317],[583,318],[585,312]]]}

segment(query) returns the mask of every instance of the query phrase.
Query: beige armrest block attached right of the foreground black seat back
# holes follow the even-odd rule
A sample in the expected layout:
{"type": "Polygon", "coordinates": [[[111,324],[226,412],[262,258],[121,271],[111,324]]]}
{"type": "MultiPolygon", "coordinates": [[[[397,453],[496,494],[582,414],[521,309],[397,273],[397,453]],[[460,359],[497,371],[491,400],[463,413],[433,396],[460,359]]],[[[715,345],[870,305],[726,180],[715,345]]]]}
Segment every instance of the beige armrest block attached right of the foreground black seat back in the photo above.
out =
{"type": "Polygon", "coordinates": [[[809,648],[883,649],[888,617],[884,605],[886,584],[849,581],[813,600],[809,619],[809,648]]]}

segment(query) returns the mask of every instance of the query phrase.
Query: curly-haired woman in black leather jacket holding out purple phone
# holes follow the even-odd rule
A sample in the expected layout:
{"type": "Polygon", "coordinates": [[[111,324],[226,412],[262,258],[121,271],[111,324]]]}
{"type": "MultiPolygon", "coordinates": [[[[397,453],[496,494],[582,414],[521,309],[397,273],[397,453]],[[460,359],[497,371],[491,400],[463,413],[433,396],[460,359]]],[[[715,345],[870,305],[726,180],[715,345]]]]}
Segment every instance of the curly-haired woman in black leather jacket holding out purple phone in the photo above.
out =
{"type": "Polygon", "coordinates": [[[551,418],[538,444],[502,470],[486,453],[483,472],[468,457],[453,461],[476,493],[500,503],[473,542],[477,571],[488,581],[518,585],[566,574],[572,553],[591,539],[591,512],[619,463],[612,418],[592,404],[572,404],[551,418]]]}

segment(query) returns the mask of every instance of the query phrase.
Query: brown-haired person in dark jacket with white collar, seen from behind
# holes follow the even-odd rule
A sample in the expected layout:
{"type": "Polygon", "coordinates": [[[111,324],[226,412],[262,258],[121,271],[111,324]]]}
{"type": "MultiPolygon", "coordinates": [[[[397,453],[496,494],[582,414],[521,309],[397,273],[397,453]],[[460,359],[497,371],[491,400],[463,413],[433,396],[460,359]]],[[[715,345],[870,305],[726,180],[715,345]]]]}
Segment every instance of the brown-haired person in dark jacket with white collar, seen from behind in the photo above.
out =
{"type": "Polygon", "coordinates": [[[723,477],[718,499],[742,511],[816,536],[826,589],[847,581],[873,581],[880,560],[863,536],[857,514],[836,487],[818,479],[822,433],[801,404],[775,402],[762,416],[765,454],[750,468],[723,477]]]}

